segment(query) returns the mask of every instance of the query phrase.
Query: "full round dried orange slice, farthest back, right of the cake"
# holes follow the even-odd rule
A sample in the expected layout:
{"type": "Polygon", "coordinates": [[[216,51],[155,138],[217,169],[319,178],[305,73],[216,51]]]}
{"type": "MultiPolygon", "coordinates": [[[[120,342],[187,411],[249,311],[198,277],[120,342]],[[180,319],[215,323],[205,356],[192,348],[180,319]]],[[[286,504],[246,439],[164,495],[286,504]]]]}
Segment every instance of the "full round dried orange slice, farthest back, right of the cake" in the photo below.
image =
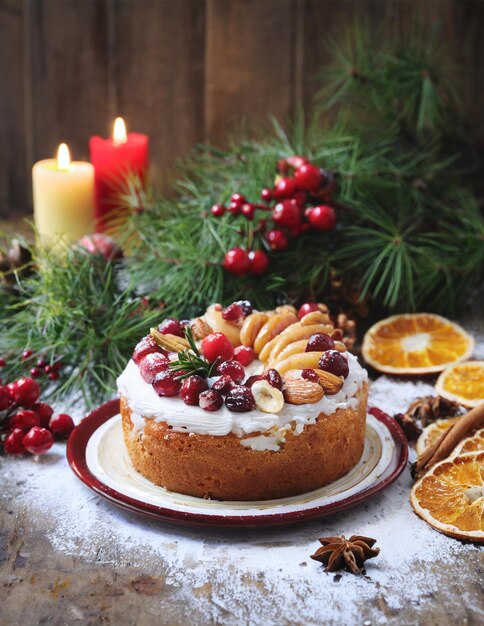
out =
{"type": "Polygon", "coordinates": [[[386,374],[432,374],[468,359],[474,340],[458,324],[433,313],[393,315],[363,339],[365,361],[386,374]]]}

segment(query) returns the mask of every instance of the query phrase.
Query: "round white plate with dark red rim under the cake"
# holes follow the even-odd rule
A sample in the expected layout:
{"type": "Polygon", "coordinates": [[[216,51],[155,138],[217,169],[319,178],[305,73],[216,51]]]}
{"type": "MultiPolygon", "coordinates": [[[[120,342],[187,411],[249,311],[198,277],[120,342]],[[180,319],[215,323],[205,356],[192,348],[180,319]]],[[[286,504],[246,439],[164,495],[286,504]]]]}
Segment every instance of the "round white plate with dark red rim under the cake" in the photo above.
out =
{"type": "Polygon", "coordinates": [[[373,408],[362,459],[331,485],[279,500],[204,500],[158,487],[133,468],[123,442],[119,401],[112,400],[72,432],[67,459],[83,483],[124,509],[176,524],[234,528],[294,524],[358,504],[398,478],[407,465],[408,447],[395,420],[373,408]]]}

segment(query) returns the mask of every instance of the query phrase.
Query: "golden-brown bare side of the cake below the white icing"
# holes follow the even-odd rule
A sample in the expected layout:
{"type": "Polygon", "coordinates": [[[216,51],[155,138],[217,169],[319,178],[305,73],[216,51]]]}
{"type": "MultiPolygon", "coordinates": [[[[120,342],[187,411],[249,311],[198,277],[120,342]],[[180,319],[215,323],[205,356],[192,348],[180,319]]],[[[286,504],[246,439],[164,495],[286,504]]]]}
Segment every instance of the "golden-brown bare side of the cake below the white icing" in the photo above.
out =
{"type": "Polygon", "coordinates": [[[357,409],[320,414],[300,435],[288,432],[279,452],[246,448],[233,433],[190,435],[146,418],[141,434],[134,430],[127,399],[121,397],[124,440],[138,472],[170,491],[220,500],[283,498],[334,482],[358,463],[367,395],[364,384],[356,394],[357,409]]]}

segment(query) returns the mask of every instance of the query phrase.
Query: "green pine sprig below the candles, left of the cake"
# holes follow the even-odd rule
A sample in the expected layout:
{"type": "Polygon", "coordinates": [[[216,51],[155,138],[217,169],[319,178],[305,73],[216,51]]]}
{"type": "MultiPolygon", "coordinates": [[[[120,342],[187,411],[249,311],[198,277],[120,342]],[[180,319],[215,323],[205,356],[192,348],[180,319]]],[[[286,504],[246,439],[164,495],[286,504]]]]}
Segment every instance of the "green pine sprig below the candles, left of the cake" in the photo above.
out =
{"type": "Polygon", "coordinates": [[[115,380],[139,339],[160,317],[131,289],[121,264],[82,248],[32,248],[37,272],[18,277],[17,298],[0,321],[2,378],[29,374],[37,359],[62,363],[59,379],[38,379],[43,396],[89,407],[116,392],[115,380]],[[22,359],[23,350],[33,352],[22,359]]]}

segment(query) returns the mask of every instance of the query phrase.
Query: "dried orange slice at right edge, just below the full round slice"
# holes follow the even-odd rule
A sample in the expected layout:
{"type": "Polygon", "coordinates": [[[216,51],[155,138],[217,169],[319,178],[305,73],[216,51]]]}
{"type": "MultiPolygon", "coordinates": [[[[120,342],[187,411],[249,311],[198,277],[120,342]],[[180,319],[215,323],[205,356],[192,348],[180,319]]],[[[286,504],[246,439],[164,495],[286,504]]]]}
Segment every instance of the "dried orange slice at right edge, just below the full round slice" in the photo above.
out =
{"type": "Polygon", "coordinates": [[[435,389],[443,398],[469,408],[484,402],[484,361],[467,361],[448,367],[437,379],[435,389]]]}

